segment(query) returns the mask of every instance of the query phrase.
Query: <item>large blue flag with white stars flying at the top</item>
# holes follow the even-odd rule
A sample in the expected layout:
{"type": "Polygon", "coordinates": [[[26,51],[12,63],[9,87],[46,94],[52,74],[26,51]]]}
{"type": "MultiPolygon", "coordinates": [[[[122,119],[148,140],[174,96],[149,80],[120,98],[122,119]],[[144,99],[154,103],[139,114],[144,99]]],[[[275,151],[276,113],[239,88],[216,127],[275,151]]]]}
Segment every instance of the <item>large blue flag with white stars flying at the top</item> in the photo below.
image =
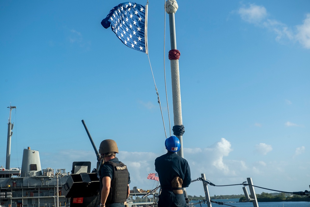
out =
{"type": "Polygon", "coordinates": [[[105,29],[111,26],[116,36],[128,47],[148,54],[148,5],[121,3],[110,11],[101,25],[105,29]]]}

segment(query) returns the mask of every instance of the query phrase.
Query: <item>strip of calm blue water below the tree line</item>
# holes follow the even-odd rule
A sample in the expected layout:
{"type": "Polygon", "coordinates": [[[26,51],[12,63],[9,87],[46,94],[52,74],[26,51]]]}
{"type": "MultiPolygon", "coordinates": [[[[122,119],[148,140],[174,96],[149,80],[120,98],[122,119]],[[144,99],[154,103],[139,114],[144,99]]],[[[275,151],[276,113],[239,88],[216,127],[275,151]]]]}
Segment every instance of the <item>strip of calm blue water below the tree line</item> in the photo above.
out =
{"type": "MultiPolygon", "coordinates": [[[[226,205],[219,205],[216,203],[212,203],[212,207],[217,206],[235,206],[235,207],[253,207],[252,203],[237,203],[239,199],[223,199],[223,200],[214,200],[218,202],[223,202],[226,205]],[[228,203],[229,201],[235,202],[235,203],[228,203]]],[[[195,203],[193,201],[193,203],[195,203]]],[[[259,202],[259,207],[309,207],[310,202],[301,201],[301,202],[259,202]]],[[[195,207],[200,207],[200,204],[194,205],[195,207]]],[[[201,204],[201,207],[207,207],[207,204],[201,204]]]]}

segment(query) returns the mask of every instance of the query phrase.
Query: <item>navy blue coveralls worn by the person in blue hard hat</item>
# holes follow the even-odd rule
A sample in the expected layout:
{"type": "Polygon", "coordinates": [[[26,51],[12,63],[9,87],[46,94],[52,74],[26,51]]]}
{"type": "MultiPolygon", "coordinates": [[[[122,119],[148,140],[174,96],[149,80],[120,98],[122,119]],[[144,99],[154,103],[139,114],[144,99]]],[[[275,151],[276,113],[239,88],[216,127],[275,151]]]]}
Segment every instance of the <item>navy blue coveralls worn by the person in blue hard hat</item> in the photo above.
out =
{"type": "Polygon", "coordinates": [[[156,158],[155,170],[158,173],[162,188],[162,192],[159,195],[158,207],[186,207],[184,194],[175,194],[172,191],[171,181],[175,176],[179,176],[183,180],[182,187],[189,186],[191,183],[191,171],[187,160],[174,152],[168,151],[166,154],[156,158]]]}

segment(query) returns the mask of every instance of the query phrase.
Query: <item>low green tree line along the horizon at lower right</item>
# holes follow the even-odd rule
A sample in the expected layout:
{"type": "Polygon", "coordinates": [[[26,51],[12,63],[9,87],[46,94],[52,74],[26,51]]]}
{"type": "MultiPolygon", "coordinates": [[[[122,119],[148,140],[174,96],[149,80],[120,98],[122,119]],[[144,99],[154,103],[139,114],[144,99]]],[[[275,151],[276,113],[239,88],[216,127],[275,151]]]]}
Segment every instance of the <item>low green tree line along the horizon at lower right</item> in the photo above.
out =
{"type": "MultiPolygon", "coordinates": [[[[216,199],[232,199],[239,198],[239,202],[246,202],[246,197],[242,194],[240,195],[220,195],[220,196],[210,196],[211,200],[216,199]]],[[[256,194],[258,202],[279,202],[279,201],[310,201],[308,196],[292,195],[289,193],[265,193],[256,194]]],[[[189,200],[204,200],[205,196],[188,196],[189,200]]]]}

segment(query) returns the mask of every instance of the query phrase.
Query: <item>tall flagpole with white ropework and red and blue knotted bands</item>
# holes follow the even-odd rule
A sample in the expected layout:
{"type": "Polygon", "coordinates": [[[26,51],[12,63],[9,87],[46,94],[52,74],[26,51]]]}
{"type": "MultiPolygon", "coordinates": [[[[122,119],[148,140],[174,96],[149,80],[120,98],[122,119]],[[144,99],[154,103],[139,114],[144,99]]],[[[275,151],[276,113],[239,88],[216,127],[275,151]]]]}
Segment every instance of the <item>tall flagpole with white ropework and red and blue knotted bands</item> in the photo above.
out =
{"type": "Polygon", "coordinates": [[[166,1],[166,12],[169,14],[170,28],[170,47],[169,60],[171,68],[171,85],[172,85],[172,102],[173,102],[173,134],[179,138],[181,149],[177,152],[180,157],[183,154],[183,134],[185,132],[182,123],[182,105],[180,91],[180,74],[179,74],[179,57],[180,51],[176,48],[176,33],[175,33],[175,12],[178,10],[178,4],[175,0],[166,1]]]}

